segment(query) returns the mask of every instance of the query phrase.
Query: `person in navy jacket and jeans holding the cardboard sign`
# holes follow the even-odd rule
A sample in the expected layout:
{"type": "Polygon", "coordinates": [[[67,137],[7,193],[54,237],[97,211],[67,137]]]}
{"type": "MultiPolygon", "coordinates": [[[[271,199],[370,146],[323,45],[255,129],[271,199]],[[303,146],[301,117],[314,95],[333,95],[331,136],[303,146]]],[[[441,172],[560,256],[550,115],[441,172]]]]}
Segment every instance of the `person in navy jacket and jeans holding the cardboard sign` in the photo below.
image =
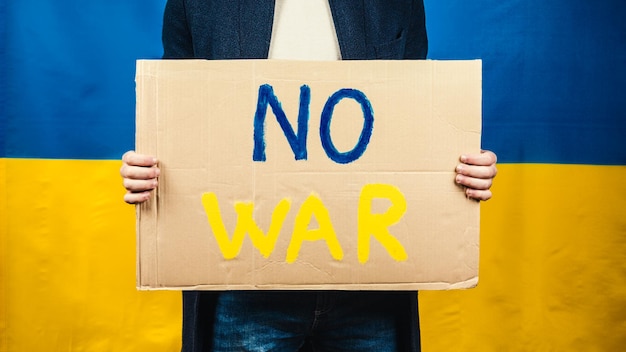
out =
{"type": "MultiPolygon", "coordinates": [[[[422,0],[168,0],[164,59],[425,59],[422,0]]],[[[124,200],[158,186],[154,156],[122,157],[124,200]]],[[[492,197],[491,151],[467,154],[456,183],[492,197]]],[[[419,351],[417,293],[183,292],[183,351],[419,351]]]]}

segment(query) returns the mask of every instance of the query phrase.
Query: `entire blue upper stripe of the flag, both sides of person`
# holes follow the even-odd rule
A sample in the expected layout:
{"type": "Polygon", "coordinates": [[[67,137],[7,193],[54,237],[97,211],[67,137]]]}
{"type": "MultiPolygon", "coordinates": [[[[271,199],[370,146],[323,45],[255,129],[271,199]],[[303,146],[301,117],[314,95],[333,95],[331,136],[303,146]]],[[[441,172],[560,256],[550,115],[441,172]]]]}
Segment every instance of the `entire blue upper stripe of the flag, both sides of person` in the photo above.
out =
{"type": "MultiPolygon", "coordinates": [[[[3,2],[0,157],[117,159],[164,0],[3,2]]],[[[626,2],[425,1],[430,59],[483,60],[483,147],[504,163],[626,164],[626,2]]]]}

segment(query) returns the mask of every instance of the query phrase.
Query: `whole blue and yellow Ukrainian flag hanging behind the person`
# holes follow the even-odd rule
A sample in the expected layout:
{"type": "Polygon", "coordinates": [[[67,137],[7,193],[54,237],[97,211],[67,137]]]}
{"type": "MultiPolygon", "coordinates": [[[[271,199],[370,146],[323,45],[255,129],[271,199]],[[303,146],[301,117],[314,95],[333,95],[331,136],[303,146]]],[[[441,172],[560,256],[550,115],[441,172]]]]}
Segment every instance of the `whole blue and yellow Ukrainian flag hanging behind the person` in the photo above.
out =
{"type": "MultiPolygon", "coordinates": [[[[626,350],[626,2],[426,0],[432,59],[483,59],[479,286],[420,293],[424,351],[626,350]]],[[[0,2],[0,351],[177,351],[135,290],[134,65],[164,0],[0,2]]]]}

